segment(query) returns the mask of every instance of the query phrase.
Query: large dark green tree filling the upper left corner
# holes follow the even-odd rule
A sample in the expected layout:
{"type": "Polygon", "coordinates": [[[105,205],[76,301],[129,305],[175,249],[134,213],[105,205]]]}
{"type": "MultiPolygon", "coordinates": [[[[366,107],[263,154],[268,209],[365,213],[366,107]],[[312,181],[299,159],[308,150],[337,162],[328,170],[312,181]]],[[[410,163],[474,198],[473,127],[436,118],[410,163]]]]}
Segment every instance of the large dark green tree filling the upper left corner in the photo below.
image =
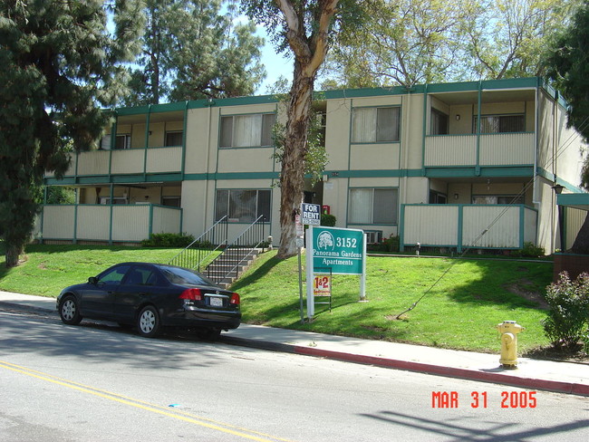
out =
{"type": "Polygon", "coordinates": [[[40,207],[45,171],[60,178],[70,149],[101,137],[122,91],[119,62],[134,58],[140,2],[5,0],[0,4],[0,225],[6,266],[19,255],[40,207]],[[107,28],[107,7],[114,34],[107,28]]]}

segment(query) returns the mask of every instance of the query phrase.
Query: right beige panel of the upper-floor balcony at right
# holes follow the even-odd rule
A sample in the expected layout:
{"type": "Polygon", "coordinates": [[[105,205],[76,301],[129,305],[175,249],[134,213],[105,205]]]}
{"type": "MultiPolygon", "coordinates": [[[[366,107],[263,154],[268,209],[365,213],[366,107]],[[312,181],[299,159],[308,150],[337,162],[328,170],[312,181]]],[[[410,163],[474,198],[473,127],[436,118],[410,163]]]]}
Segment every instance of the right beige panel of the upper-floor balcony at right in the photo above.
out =
{"type": "Polygon", "coordinates": [[[480,136],[481,166],[534,164],[533,133],[494,133],[480,136]]]}

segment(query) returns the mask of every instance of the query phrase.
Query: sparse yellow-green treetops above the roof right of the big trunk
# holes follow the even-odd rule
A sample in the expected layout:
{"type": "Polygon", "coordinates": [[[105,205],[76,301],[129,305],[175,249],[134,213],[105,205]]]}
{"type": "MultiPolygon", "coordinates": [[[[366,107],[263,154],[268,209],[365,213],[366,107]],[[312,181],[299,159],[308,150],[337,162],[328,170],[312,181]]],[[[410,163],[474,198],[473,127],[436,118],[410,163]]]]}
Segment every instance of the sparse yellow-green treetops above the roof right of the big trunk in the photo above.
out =
{"type": "Polygon", "coordinates": [[[330,53],[330,87],[542,75],[552,34],[580,0],[379,0],[330,53]]]}

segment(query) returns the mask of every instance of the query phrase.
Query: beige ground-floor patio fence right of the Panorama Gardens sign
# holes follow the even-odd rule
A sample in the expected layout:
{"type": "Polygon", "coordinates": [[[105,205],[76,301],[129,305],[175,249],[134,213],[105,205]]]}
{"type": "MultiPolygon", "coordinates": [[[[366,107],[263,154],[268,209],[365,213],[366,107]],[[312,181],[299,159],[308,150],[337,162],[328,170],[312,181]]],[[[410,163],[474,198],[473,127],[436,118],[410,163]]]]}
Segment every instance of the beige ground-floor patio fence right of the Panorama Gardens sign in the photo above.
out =
{"type": "Polygon", "coordinates": [[[537,211],[524,205],[402,205],[401,250],[422,246],[519,249],[536,244],[537,211]]]}

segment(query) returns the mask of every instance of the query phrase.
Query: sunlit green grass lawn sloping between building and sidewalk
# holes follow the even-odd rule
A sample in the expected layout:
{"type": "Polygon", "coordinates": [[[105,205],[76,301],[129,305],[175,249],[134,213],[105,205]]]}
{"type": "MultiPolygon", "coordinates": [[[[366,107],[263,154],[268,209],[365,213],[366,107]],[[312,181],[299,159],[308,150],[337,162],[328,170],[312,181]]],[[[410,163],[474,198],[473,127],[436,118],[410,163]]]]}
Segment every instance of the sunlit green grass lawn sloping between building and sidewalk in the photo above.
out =
{"type": "MultiPolygon", "coordinates": [[[[27,261],[5,268],[0,243],[0,290],[57,296],[111,264],[124,261],[167,263],[179,250],[98,245],[30,245],[27,261]]],[[[546,262],[456,260],[369,256],[366,294],[359,303],[358,276],[333,276],[333,310],[317,305],[314,322],[301,324],[297,258],[261,255],[234,283],[244,321],[274,327],[403,341],[443,348],[498,353],[496,325],[514,320],[526,327],[518,335],[520,354],[546,346],[541,321],[546,311],[531,301],[542,297],[552,278],[546,262]],[[450,268],[451,267],[451,268],[450,268]],[[395,317],[443,278],[410,312],[395,317]]],[[[306,303],[304,304],[306,308],[306,303]]]]}

